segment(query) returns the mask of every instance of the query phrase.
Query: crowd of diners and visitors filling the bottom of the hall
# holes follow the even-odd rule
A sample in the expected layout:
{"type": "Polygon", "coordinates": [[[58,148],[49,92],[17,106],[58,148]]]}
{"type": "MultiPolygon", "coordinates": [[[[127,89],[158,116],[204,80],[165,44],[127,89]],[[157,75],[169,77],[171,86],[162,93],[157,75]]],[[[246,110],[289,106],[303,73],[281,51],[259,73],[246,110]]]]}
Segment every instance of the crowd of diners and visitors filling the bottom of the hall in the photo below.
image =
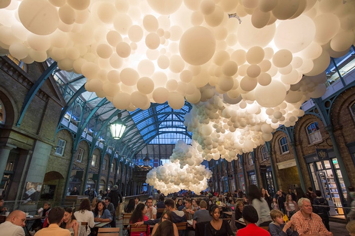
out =
{"type": "MultiPolygon", "coordinates": [[[[355,201],[355,193],[349,187],[349,201],[355,201]]],[[[113,191],[116,192],[117,186],[113,191]]],[[[271,236],[297,236],[297,235],[333,235],[329,228],[330,210],[328,201],[323,198],[321,191],[313,192],[308,188],[304,193],[301,188],[289,189],[284,193],[279,189],[275,196],[271,196],[265,188],[256,185],[248,186],[246,196],[239,189],[234,192],[237,201],[234,203],[234,194],[230,195],[207,192],[201,193],[199,198],[191,199],[185,195],[183,199],[172,196],[165,199],[163,194],[154,199],[148,198],[141,203],[139,198],[133,198],[124,208],[131,213],[129,223],[135,226],[146,225],[145,232],[131,232],[133,236],[231,236],[234,235],[231,224],[222,218],[225,211],[235,213],[236,236],[246,235],[271,235],[271,236]],[[162,209],[160,215],[158,209],[162,209]],[[187,228],[182,232],[178,230],[177,223],[187,222],[187,228]],[[152,227],[152,228],[151,228],[152,227]]],[[[122,201],[120,194],[114,196],[117,205],[122,201]]],[[[122,196],[121,196],[122,198],[122,196]]],[[[97,234],[94,222],[107,222],[103,227],[116,227],[116,213],[112,198],[107,195],[98,200],[93,198],[83,199],[79,209],[74,212],[72,208],[53,207],[48,202],[39,210],[43,220],[35,221],[33,231],[28,233],[35,236],[42,235],[91,235],[97,234]],[[81,226],[87,222],[87,227],[81,226]]],[[[355,205],[355,204],[353,204],[355,205]]],[[[355,207],[355,206],[354,206],[355,207]]],[[[4,200],[0,198],[0,210],[7,211],[4,200]]],[[[355,209],[351,209],[355,210],[355,209]]],[[[350,214],[351,215],[351,214],[350,214]]],[[[26,214],[23,211],[11,212],[6,221],[0,224],[1,235],[24,236],[26,214]]],[[[234,223],[234,222],[232,222],[234,223]]],[[[233,225],[234,226],[234,225],[233,225]]],[[[355,236],[355,220],[350,218],[346,229],[350,235],[355,236]]]]}

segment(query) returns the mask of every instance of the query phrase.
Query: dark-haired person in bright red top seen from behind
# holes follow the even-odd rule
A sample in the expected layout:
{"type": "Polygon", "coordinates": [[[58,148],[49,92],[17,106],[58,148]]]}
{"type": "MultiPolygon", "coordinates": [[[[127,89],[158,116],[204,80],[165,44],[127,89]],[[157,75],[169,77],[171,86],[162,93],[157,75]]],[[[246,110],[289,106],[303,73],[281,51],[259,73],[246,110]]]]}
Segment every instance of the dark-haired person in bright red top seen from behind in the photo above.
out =
{"type": "Polygon", "coordinates": [[[246,227],[238,229],[237,236],[270,236],[267,230],[256,225],[259,216],[257,210],[252,205],[244,206],[242,216],[246,227]]]}

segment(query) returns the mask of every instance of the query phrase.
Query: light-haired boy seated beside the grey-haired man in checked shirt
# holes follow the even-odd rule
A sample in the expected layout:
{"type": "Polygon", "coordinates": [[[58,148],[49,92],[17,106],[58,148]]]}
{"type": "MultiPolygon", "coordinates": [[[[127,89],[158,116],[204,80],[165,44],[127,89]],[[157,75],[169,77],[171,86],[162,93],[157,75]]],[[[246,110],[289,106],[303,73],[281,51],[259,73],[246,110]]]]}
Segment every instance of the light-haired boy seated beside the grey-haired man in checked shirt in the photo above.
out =
{"type": "Polygon", "coordinates": [[[271,210],[270,216],[273,222],[269,224],[269,232],[271,236],[298,236],[298,232],[293,225],[292,220],[283,222],[283,213],[279,210],[271,210]]]}

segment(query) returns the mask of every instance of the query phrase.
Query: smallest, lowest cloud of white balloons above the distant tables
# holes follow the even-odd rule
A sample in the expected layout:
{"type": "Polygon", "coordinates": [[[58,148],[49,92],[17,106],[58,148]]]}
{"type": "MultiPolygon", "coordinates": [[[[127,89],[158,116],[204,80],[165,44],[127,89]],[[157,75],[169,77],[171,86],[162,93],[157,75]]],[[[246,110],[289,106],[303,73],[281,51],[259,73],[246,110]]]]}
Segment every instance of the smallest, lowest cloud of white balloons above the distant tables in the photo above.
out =
{"type": "Polygon", "coordinates": [[[197,143],[191,145],[177,141],[170,156],[170,163],[155,167],[147,174],[146,183],[168,194],[181,189],[200,192],[207,188],[207,179],[212,172],[201,165],[203,159],[197,150],[197,143]]]}

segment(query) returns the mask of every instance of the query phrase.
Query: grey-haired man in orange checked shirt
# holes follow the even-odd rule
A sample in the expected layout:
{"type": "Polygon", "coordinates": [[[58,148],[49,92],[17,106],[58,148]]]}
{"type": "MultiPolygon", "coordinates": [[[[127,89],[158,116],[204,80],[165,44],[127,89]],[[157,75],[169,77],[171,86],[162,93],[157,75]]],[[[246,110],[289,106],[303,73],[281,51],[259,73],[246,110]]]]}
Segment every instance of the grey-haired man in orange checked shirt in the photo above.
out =
{"type": "Polygon", "coordinates": [[[295,222],[297,232],[300,236],[333,236],[324,226],[322,218],[312,212],[312,205],[307,198],[298,200],[300,210],[292,216],[292,221],[295,222]]]}

